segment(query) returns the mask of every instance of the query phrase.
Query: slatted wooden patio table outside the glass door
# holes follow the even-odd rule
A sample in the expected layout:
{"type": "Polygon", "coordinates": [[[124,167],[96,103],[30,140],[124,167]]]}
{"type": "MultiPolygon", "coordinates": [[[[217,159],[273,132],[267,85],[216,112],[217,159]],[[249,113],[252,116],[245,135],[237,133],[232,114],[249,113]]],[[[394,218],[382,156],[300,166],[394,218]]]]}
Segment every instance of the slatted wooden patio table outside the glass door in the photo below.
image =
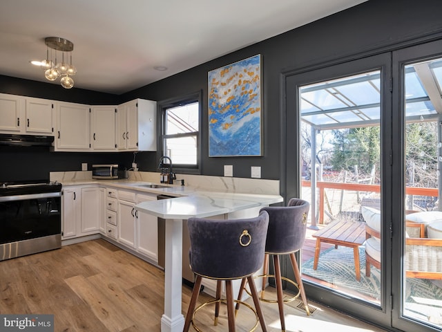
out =
{"type": "Polygon", "coordinates": [[[333,221],[322,230],[318,230],[318,232],[312,236],[316,237],[315,258],[313,264],[314,270],[318,268],[321,243],[334,244],[335,248],[338,248],[338,246],[345,246],[353,248],[356,280],[361,281],[359,246],[365,241],[365,223],[339,220],[333,221]]]}

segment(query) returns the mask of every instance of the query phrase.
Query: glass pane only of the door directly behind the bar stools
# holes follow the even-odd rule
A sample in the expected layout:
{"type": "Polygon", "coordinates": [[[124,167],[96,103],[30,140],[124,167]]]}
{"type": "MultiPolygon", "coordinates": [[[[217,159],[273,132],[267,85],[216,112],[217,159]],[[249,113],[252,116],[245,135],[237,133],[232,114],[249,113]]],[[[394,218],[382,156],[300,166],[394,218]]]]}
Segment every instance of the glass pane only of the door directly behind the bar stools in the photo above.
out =
{"type": "Polygon", "coordinates": [[[298,87],[302,199],[311,202],[302,274],[381,304],[381,68],[298,87]]]}

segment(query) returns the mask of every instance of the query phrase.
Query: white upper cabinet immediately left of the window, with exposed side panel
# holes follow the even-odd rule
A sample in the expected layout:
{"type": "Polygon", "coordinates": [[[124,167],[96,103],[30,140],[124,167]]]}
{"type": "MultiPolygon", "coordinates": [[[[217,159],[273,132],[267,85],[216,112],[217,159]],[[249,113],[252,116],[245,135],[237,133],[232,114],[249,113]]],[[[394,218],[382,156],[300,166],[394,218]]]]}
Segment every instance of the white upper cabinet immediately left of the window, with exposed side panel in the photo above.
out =
{"type": "Polygon", "coordinates": [[[136,99],[117,108],[117,149],[157,151],[157,103],[136,99]]]}

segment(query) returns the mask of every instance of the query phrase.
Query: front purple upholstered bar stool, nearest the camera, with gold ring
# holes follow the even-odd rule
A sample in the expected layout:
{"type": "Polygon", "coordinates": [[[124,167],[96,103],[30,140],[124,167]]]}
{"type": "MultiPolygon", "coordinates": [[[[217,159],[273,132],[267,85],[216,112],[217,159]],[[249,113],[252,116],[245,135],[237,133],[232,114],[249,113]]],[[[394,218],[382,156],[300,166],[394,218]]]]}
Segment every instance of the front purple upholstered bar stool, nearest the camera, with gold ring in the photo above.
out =
{"type": "Polygon", "coordinates": [[[242,302],[256,315],[256,324],[250,331],[256,329],[258,321],[262,331],[267,331],[252,275],[262,267],[268,225],[269,214],[265,211],[261,211],[259,216],[250,219],[190,218],[187,221],[191,240],[189,259],[196,280],[184,323],[184,332],[189,331],[191,324],[195,330],[201,331],[195,326],[193,318],[200,308],[209,303],[215,303],[214,325],[218,324],[220,302],[224,301],[221,299],[222,280],[226,283],[229,332],[235,331],[233,302],[238,303],[238,301],[233,300],[231,282],[234,279],[247,279],[251,288],[255,309],[242,302]],[[216,298],[195,309],[203,277],[217,280],[216,298]]]}

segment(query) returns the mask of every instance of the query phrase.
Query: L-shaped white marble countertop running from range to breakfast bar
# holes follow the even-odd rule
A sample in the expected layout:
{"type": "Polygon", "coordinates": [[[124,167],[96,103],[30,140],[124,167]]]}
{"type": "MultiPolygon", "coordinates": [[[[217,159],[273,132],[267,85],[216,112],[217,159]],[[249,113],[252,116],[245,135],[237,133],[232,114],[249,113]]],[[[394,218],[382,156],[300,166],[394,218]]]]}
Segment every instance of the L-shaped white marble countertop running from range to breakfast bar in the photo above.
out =
{"type": "MultiPolygon", "coordinates": [[[[188,185],[166,185],[164,188],[144,187],[149,184],[140,181],[126,180],[81,180],[68,181],[63,185],[107,185],[126,190],[137,190],[151,194],[173,196],[173,199],[146,201],[135,205],[137,210],[153,214],[164,219],[189,219],[190,217],[205,218],[218,214],[226,214],[249,208],[271,205],[283,201],[282,196],[272,194],[247,194],[238,192],[209,192],[195,190],[188,185]]],[[[163,184],[161,184],[163,185],[163,184]]]]}

